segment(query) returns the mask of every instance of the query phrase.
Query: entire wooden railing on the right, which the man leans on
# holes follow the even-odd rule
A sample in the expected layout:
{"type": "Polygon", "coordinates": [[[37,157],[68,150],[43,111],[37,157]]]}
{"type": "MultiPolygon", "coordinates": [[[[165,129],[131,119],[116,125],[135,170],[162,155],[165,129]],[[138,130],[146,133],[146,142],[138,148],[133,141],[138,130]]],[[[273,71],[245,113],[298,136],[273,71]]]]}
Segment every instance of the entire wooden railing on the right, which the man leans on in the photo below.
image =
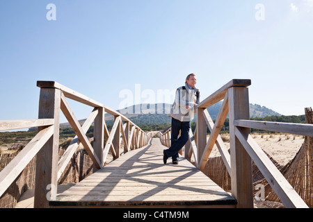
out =
{"type": "MultiPolygon", "coordinates": [[[[307,207],[262,148],[252,139],[250,128],[312,137],[313,125],[250,121],[248,98],[250,84],[251,80],[233,79],[196,107],[195,135],[193,136],[190,130],[189,140],[185,145],[185,157],[190,160],[193,155],[196,166],[203,170],[216,144],[230,174],[232,196],[237,200],[237,207],[253,207],[251,160],[255,162],[285,207],[307,207]],[[207,108],[221,100],[223,103],[214,123],[207,108]],[[227,114],[230,118],[230,153],[220,137],[220,130],[227,114]],[[210,131],[209,139],[207,139],[207,127],[210,131]]],[[[160,139],[164,145],[170,147],[170,129],[160,134],[160,139]]]]}

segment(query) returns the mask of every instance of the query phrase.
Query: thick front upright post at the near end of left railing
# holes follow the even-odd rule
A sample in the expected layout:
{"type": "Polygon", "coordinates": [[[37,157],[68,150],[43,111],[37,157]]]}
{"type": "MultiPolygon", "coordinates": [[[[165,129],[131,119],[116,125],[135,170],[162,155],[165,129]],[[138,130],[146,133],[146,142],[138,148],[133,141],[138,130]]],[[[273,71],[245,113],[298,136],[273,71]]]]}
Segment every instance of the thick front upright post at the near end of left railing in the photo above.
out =
{"type": "MultiPolygon", "coordinates": [[[[57,194],[58,139],[61,90],[41,88],[38,119],[54,119],[54,135],[42,146],[36,157],[34,208],[48,208],[57,194]]],[[[39,127],[41,131],[45,127],[39,127]]]]}

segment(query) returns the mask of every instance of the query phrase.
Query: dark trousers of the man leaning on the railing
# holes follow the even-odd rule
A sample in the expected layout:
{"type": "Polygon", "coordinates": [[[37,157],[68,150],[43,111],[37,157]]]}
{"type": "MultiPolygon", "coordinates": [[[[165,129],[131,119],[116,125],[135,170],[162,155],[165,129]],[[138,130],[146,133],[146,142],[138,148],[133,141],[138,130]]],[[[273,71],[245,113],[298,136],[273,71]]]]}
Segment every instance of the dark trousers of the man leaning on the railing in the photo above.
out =
{"type": "Polygon", "coordinates": [[[188,141],[190,127],[190,121],[182,122],[172,118],[172,133],[170,138],[171,146],[168,150],[166,150],[166,155],[168,155],[168,157],[172,157],[172,161],[178,160],[178,152],[188,141]],[[178,138],[179,130],[181,130],[181,134],[178,138]]]}

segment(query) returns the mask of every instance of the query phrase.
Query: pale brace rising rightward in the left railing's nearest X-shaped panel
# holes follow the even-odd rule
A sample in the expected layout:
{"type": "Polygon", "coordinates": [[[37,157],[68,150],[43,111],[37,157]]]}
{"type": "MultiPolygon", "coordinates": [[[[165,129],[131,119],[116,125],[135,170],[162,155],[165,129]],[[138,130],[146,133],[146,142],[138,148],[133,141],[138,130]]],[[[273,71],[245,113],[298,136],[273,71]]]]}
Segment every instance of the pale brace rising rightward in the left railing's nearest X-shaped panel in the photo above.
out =
{"type": "MultiPolygon", "coordinates": [[[[91,124],[95,120],[95,117],[97,117],[97,114],[98,114],[98,110],[97,108],[95,108],[93,112],[91,112],[89,117],[86,119],[86,121],[83,123],[83,126],[81,126],[81,128],[83,129],[83,133],[87,133],[91,124]]],[[[67,163],[70,162],[72,156],[74,155],[75,151],[79,147],[80,143],[81,142],[79,141],[78,137],[75,136],[70,146],[67,147],[66,151],[63,153],[63,156],[58,161],[58,179],[61,177],[63,171],[65,171],[67,167],[67,163]]]]}

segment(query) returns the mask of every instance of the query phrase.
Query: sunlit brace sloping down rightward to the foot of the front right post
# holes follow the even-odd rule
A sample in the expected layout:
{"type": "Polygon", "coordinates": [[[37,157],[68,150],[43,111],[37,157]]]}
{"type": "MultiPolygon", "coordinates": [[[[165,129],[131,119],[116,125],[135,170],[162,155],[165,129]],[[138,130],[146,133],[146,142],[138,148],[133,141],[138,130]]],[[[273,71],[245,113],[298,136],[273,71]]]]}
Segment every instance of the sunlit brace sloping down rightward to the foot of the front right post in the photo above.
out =
{"type": "MultiPolygon", "coordinates": [[[[209,130],[212,131],[214,128],[214,122],[211,119],[209,112],[207,110],[204,110],[203,114],[204,114],[204,119],[207,122],[207,126],[209,127],[209,130]]],[[[220,156],[222,157],[222,160],[225,164],[225,167],[226,167],[228,173],[231,173],[231,171],[230,171],[230,153],[228,153],[227,148],[226,148],[222,138],[220,137],[220,135],[218,135],[218,137],[216,139],[216,146],[218,147],[218,151],[220,151],[220,156]]]]}

